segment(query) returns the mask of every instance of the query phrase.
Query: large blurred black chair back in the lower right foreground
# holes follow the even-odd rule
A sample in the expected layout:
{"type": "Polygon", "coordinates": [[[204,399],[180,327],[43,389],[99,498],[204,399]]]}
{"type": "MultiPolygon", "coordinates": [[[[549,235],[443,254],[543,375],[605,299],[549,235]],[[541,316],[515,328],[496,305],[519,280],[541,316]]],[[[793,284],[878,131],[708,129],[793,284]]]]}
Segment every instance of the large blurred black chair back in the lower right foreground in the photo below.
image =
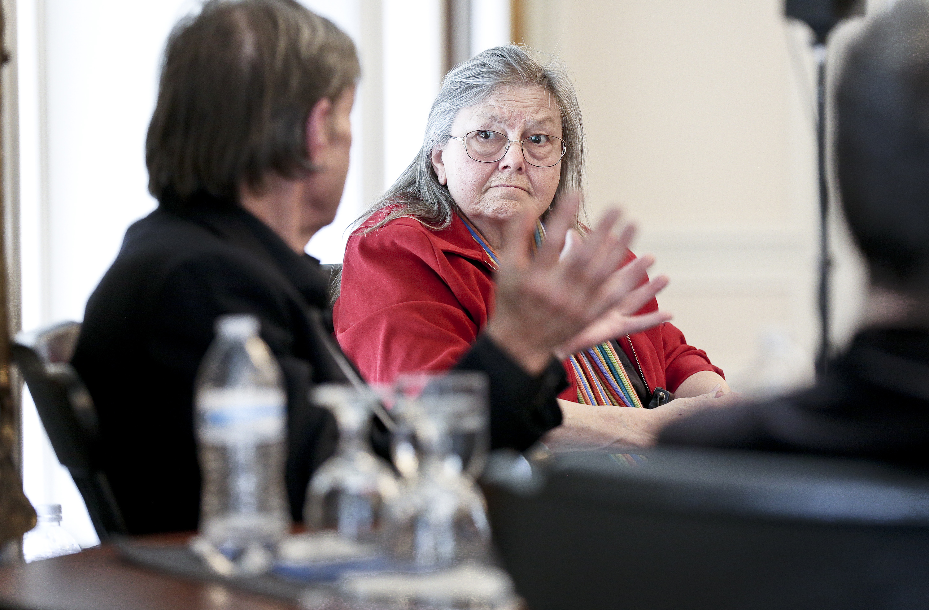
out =
{"type": "Polygon", "coordinates": [[[929,476],[661,449],[491,461],[491,525],[532,610],[929,608],[929,476]],[[514,474],[515,473],[515,474],[514,474]]]}

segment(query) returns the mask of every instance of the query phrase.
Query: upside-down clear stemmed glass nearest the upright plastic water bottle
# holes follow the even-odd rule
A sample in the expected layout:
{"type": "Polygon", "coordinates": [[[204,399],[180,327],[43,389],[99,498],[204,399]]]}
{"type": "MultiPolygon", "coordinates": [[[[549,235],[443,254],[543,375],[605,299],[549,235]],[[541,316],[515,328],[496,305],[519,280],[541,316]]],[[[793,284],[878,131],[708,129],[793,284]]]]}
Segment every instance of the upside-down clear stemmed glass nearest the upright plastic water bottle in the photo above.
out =
{"type": "Polygon", "coordinates": [[[393,471],[367,440],[376,396],[348,385],[323,384],[313,399],[333,412],[339,444],[307,487],[304,521],[314,529],[335,529],[347,539],[374,542],[384,503],[399,493],[393,471]]]}

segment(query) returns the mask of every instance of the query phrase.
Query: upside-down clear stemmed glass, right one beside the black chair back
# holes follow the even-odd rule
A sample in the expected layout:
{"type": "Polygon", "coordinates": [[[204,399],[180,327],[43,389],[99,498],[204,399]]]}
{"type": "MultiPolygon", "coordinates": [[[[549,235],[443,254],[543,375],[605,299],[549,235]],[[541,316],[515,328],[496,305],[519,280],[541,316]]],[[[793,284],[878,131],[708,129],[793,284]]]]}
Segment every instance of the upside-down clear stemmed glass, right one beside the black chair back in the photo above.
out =
{"type": "Polygon", "coordinates": [[[383,543],[401,564],[441,567],[489,552],[484,498],[463,472],[464,464],[479,472],[487,453],[487,382],[462,377],[405,376],[396,385],[393,452],[405,482],[385,504],[383,543]]]}

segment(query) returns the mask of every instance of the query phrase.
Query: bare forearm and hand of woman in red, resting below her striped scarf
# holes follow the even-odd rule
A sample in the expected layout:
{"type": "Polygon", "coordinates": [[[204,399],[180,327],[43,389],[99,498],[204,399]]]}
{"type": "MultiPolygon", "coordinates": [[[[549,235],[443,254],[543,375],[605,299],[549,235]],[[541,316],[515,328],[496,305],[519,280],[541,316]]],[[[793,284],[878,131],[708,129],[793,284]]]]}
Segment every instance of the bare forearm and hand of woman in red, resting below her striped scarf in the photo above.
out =
{"type": "Polygon", "coordinates": [[[580,405],[558,399],[564,417],[560,426],[544,435],[542,442],[555,452],[604,451],[623,453],[649,448],[669,423],[705,409],[726,409],[739,402],[734,392],[721,386],[691,398],[675,398],[655,409],[580,405]]]}

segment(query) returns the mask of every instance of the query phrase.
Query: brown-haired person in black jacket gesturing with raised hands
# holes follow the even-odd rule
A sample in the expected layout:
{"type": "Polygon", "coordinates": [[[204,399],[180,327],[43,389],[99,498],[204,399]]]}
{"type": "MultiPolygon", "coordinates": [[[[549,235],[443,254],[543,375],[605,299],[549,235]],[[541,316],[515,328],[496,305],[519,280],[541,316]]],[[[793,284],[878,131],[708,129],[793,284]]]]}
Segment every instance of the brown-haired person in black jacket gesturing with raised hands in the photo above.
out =
{"type": "MultiPolygon", "coordinates": [[[[168,39],[146,143],[158,208],[126,231],[72,360],[96,403],[99,459],[132,534],[197,526],[194,379],[216,318],[230,313],[260,320],[281,365],[285,481],[301,518],[310,475],[336,440],[308,391],[347,379],[326,322],[327,279],[304,248],[342,197],[359,73],[347,35],[293,0],[212,0],[168,39]]],[[[573,214],[565,210],[534,258],[531,227],[511,227],[504,305],[455,364],[488,373],[500,447],[527,448],[560,422],[556,345],[602,316],[633,332],[663,319],[616,312],[655,287],[635,288],[644,266],[603,267],[628,240],[611,236],[615,217],[559,260],[573,214]]]]}

